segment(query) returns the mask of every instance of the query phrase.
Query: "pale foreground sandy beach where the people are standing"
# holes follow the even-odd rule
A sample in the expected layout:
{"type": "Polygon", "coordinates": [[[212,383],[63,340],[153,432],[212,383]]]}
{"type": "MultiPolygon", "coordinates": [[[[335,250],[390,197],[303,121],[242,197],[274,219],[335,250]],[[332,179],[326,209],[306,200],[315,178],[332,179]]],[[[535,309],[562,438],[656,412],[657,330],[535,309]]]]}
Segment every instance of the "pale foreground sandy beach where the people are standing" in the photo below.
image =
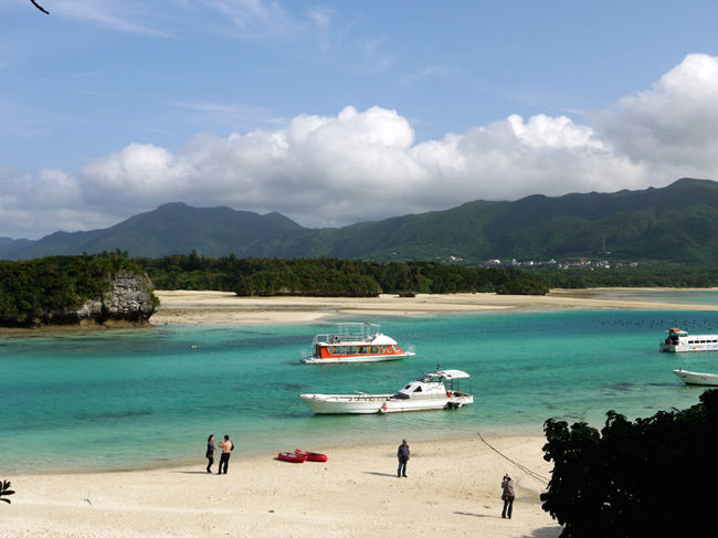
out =
{"type": "MultiPolygon", "coordinates": [[[[541,457],[542,437],[487,441],[532,472],[549,476],[550,466],[541,457]]],[[[541,510],[543,484],[478,439],[409,440],[408,478],[395,475],[400,442],[331,450],[326,463],[291,464],[277,461],[276,454],[245,460],[237,439],[229,474],[221,476],[207,474],[205,461],[198,457],[196,466],[182,468],[11,477],[17,494],[11,505],[0,506],[1,534],[34,538],[560,534],[541,510]],[[516,482],[511,519],[500,517],[500,481],[506,472],[516,482]]]]}

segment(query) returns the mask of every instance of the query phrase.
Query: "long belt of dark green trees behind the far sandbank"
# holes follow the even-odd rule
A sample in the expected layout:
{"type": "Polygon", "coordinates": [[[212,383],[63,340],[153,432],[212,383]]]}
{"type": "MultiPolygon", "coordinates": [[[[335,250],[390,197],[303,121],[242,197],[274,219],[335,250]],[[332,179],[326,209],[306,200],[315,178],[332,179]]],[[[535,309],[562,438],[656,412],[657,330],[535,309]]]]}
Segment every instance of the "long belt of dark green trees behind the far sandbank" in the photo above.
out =
{"type": "Polygon", "coordinates": [[[205,257],[196,253],[137,261],[158,289],[215,289],[237,295],[373,297],[380,293],[545,294],[538,275],[434,262],[338,259],[205,257]]]}

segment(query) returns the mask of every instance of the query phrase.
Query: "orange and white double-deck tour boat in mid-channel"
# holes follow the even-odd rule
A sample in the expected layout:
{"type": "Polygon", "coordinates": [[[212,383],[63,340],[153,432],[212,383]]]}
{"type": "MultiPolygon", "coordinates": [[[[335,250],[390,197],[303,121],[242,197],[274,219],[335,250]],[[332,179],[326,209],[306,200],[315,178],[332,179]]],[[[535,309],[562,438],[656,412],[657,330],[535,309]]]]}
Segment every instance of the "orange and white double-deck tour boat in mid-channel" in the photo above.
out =
{"type": "Polygon", "coordinates": [[[339,324],[336,333],[316,335],[312,351],[302,352],[306,365],[337,362],[378,362],[414,355],[414,347],[403,350],[397,340],[379,333],[379,325],[367,323],[339,324]]]}

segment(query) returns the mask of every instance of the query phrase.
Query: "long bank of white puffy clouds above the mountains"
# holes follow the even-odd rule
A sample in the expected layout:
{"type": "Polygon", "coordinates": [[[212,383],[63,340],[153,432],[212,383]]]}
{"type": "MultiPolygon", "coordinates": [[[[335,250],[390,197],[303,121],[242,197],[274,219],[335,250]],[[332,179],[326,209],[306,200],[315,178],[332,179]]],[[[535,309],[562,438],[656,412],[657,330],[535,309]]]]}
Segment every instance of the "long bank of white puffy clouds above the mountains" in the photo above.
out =
{"type": "MultiPolygon", "coordinates": [[[[566,116],[511,115],[418,144],[397,110],[347,106],[336,116],[303,114],[268,130],[200,134],[177,151],[130,144],[75,175],[4,170],[2,192],[15,194],[0,198],[0,212],[34,211],[34,228],[24,221],[15,225],[28,233],[70,223],[76,228],[68,229],[88,229],[103,213],[109,225],[168,201],[279,211],[320,226],[478,199],[642,189],[683,176],[716,178],[715,95],[718,59],[691,54],[650,89],[596,113],[592,125],[566,116]],[[45,211],[53,202],[67,213],[45,211]]],[[[7,234],[0,229],[0,235],[7,234]]]]}

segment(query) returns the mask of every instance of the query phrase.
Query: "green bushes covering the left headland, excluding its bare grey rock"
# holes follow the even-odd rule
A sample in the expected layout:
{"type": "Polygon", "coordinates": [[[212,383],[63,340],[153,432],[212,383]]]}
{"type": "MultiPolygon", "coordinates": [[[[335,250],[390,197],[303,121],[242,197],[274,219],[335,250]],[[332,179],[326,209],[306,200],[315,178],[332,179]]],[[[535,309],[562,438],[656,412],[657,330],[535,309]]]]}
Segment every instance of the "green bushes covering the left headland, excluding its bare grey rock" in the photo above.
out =
{"type": "Polygon", "coordinates": [[[144,274],[141,267],[115,254],[0,261],[0,324],[29,326],[49,312],[99,300],[109,291],[113,273],[144,274]]]}

